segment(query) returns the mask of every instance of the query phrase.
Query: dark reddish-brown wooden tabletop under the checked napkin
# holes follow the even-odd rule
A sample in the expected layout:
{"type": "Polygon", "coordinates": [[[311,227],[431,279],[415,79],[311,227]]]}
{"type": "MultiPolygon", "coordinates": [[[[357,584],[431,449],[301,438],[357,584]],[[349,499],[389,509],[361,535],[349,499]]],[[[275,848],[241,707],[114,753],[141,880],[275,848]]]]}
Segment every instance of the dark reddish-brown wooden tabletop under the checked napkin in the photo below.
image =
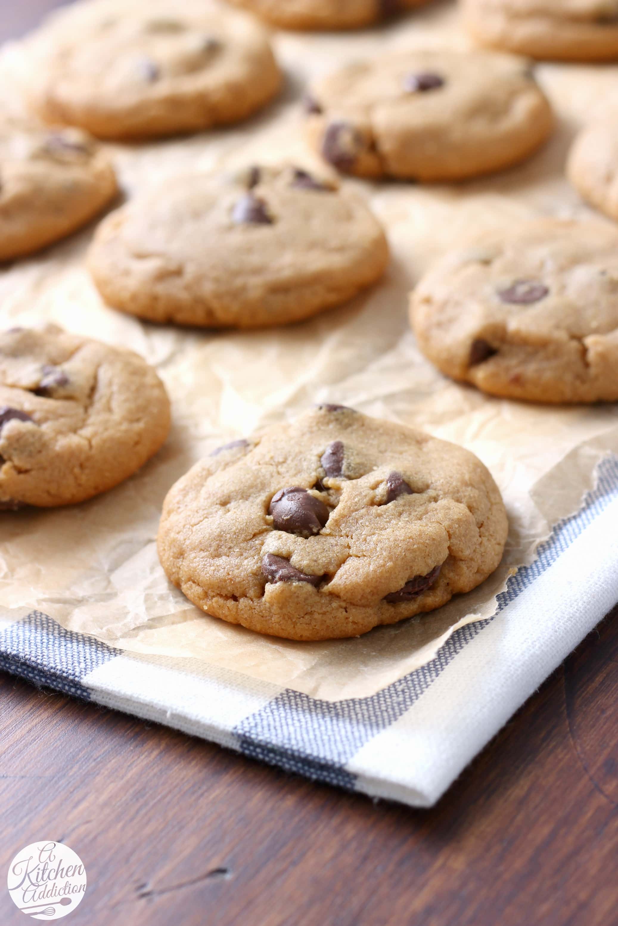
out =
{"type": "MultiPolygon", "coordinates": [[[[0,39],[51,6],[0,0],[0,39]]],[[[88,876],[71,926],[615,926],[616,617],[430,811],[0,673],[0,923],[9,860],[54,839],[88,876]]]]}

